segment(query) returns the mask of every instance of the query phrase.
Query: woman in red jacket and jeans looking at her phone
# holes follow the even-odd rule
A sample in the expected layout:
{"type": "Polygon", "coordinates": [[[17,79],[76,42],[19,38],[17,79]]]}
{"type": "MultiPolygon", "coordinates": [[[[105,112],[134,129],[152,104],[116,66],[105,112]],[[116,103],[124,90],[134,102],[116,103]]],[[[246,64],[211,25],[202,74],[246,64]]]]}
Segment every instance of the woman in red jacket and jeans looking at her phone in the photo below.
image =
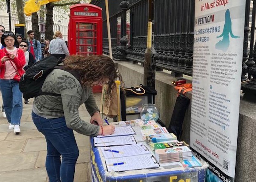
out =
{"type": "Polygon", "coordinates": [[[5,114],[10,123],[9,129],[14,129],[14,133],[20,133],[22,93],[17,77],[24,73],[23,66],[26,60],[24,52],[14,46],[17,39],[13,32],[5,31],[1,43],[5,46],[0,50],[0,87],[5,114]]]}

